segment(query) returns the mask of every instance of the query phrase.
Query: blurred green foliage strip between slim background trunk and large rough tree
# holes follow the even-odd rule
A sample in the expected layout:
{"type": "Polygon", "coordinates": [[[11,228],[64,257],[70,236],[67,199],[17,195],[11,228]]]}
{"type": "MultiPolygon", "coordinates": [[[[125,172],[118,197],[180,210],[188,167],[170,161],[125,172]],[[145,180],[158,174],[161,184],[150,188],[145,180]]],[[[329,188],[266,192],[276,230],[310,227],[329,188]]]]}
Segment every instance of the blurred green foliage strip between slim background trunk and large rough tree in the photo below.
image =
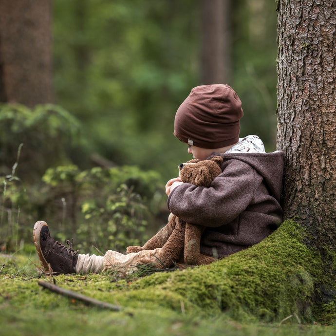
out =
{"type": "Polygon", "coordinates": [[[276,2],[243,0],[232,8],[232,86],[242,100],[241,134],[257,134],[268,151],[276,148],[276,2]]]}

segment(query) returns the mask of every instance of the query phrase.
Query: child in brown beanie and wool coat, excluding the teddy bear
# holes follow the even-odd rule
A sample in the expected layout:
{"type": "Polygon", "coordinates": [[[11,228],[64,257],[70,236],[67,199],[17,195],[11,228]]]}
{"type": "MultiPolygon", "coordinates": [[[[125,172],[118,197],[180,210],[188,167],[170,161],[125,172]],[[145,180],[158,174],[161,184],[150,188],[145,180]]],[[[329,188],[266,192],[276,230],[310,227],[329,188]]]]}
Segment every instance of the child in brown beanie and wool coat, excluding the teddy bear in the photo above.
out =
{"type": "MultiPolygon", "coordinates": [[[[222,174],[209,188],[166,184],[168,208],[182,220],[206,226],[201,253],[223,258],[261,242],[281,223],[283,155],[265,153],[259,137],[239,138],[243,116],[237,93],[224,84],[191,90],[175,115],[174,135],[199,160],[221,155],[222,174]]],[[[50,237],[48,225],[34,226],[34,241],[43,267],[58,273],[99,273],[106,269],[133,270],[139,259],[155,255],[145,250],[127,255],[107,251],[104,256],[78,254],[50,237]]]]}

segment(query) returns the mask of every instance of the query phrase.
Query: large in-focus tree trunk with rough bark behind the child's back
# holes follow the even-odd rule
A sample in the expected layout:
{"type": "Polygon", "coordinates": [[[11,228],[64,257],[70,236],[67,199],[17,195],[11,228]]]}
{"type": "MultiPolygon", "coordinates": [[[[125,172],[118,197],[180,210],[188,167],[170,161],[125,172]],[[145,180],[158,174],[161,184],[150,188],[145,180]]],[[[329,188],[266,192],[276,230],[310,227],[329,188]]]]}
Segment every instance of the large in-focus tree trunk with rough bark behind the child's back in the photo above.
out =
{"type": "Polygon", "coordinates": [[[334,249],[336,2],[279,0],[278,44],[285,217],[298,216],[314,246],[334,249]]]}

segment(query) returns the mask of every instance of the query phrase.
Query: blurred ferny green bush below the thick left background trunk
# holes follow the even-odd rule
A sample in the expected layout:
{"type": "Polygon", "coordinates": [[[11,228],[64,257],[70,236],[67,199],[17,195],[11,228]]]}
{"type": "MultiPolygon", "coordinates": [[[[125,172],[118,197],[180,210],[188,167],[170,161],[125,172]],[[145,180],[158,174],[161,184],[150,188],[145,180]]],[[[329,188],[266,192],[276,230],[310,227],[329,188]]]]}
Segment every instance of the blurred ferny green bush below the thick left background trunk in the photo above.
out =
{"type": "Polygon", "coordinates": [[[0,172],[10,174],[23,144],[16,174],[29,180],[39,178],[56,163],[68,161],[71,146],[80,141],[80,124],[75,117],[50,104],[34,109],[0,104],[0,128],[0,172]]]}

